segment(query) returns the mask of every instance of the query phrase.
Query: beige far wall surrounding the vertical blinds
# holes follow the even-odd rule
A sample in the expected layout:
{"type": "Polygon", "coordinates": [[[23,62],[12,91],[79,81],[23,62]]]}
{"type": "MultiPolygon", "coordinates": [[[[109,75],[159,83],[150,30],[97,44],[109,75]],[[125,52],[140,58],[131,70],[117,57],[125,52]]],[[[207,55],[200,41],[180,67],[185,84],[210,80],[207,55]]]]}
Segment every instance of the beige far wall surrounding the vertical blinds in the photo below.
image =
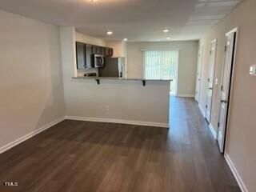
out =
{"type": "Polygon", "coordinates": [[[142,49],[179,50],[178,95],[194,95],[198,59],[198,41],[128,42],[128,78],[143,77],[142,49]]]}

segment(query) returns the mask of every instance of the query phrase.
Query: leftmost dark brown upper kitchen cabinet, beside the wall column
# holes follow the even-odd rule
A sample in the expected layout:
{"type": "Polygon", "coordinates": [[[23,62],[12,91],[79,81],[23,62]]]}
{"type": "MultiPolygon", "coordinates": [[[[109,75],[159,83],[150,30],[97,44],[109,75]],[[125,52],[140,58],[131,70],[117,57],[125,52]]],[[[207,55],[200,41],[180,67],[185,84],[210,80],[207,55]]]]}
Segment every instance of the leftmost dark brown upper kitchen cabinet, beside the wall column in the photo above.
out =
{"type": "Polygon", "coordinates": [[[77,54],[77,68],[86,68],[86,45],[82,42],[76,42],[76,54],[77,54]]]}

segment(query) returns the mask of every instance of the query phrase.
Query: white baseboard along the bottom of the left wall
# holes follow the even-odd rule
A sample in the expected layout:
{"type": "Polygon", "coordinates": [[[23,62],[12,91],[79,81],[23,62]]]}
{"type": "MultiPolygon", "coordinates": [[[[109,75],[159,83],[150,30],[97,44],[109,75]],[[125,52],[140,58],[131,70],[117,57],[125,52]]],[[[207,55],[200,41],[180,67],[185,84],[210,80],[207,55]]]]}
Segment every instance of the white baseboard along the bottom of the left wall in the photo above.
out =
{"type": "Polygon", "coordinates": [[[62,122],[64,119],[65,119],[65,117],[58,118],[54,122],[50,122],[46,126],[42,126],[39,129],[33,130],[29,134],[26,134],[26,135],[22,136],[21,138],[16,139],[14,142],[9,142],[5,146],[0,147],[0,154],[2,154],[6,150],[9,150],[10,148],[12,148],[14,146],[17,146],[19,143],[24,142],[29,138],[32,138],[34,135],[41,133],[43,130],[47,130],[50,127],[58,124],[59,122],[62,122]]]}

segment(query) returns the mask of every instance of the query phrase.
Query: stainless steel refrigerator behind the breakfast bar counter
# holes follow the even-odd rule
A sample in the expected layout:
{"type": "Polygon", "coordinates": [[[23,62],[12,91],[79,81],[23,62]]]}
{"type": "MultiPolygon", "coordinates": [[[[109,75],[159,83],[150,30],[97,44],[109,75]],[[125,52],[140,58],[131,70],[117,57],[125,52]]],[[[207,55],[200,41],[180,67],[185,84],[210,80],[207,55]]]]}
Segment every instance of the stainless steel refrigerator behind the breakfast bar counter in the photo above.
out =
{"type": "Polygon", "coordinates": [[[98,69],[99,77],[125,78],[125,58],[105,58],[105,64],[98,69]]]}

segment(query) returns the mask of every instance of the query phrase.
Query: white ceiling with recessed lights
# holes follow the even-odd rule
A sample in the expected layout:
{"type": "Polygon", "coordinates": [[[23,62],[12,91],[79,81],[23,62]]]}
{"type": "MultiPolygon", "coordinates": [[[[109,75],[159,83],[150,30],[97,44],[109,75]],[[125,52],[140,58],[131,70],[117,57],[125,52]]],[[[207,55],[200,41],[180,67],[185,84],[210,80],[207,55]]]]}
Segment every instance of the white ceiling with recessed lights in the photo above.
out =
{"type": "Polygon", "coordinates": [[[0,0],[0,9],[103,39],[198,39],[241,0],[0,0]],[[170,29],[169,34],[162,29],[170,29]],[[114,31],[111,37],[106,30],[114,31]]]}

